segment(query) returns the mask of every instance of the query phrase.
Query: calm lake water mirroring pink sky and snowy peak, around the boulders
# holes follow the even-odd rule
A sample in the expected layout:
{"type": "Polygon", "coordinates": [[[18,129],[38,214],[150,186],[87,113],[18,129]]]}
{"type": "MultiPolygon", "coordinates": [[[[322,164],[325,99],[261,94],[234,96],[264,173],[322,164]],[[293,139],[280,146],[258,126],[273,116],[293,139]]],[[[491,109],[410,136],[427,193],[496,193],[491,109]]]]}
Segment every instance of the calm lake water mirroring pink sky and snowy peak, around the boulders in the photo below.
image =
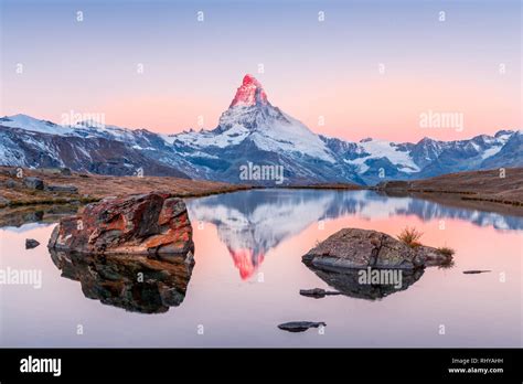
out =
{"type": "Polygon", "coordinates": [[[124,289],[115,281],[135,267],[105,262],[104,281],[90,260],[58,269],[46,248],[55,223],[0,228],[1,269],[42,277],[41,287],[0,286],[1,346],[522,345],[523,217],[373,191],[254,190],[186,202],[195,265],[173,273],[184,296],[161,282],[167,306],[129,276],[126,300],[113,300],[124,289]],[[426,245],[453,248],[453,266],[426,268],[377,299],[299,295],[332,289],[301,263],[318,242],[343,227],[395,236],[406,226],[426,245]],[[41,245],[26,250],[25,238],[41,245]],[[327,326],[277,328],[293,320],[327,326]]]}

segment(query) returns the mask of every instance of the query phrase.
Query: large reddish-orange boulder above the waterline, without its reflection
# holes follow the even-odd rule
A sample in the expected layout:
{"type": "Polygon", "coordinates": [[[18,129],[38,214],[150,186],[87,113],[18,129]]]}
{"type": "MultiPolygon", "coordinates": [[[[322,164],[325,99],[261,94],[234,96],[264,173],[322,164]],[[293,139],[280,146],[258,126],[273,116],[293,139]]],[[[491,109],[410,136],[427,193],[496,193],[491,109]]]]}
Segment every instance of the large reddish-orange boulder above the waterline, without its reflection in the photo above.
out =
{"type": "Polygon", "coordinates": [[[193,252],[185,203],[169,193],[106,198],[63,218],[47,247],[84,254],[193,252]]]}

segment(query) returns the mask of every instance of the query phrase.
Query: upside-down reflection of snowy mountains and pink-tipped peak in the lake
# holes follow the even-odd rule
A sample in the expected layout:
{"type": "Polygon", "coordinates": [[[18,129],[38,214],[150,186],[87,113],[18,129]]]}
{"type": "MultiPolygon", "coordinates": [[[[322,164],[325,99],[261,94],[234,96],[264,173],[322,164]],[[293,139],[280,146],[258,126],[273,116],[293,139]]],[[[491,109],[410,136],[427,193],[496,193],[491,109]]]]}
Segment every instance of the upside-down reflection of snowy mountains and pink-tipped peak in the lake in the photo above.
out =
{"type": "Polygon", "coordinates": [[[523,228],[522,217],[373,191],[253,190],[190,200],[188,210],[194,226],[199,222],[216,226],[242,279],[253,276],[265,255],[286,238],[314,222],[341,216],[415,215],[423,221],[459,218],[497,230],[523,228]]]}

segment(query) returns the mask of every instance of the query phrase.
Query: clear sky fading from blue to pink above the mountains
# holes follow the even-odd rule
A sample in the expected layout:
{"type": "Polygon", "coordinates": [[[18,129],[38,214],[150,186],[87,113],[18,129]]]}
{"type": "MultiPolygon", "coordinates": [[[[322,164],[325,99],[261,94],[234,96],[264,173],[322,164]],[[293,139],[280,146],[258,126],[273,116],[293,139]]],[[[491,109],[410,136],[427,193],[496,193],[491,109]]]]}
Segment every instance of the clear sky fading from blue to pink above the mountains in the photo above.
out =
{"type": "Polygon", "coordinates": [[[350,140],[522,127],[519,0],[0,2],[2,116],[214,128],[250,73],[273,105],[350,140]],[[465,129],[420,128],[428,110],[463,114],[465,129]]]}

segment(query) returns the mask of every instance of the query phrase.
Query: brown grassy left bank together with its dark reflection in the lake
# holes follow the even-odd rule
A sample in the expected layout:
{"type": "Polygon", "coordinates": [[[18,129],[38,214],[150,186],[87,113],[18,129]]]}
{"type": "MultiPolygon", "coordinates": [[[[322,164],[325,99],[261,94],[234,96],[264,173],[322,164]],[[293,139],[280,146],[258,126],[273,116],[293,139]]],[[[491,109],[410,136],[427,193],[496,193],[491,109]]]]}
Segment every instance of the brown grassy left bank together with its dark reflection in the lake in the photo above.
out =
{"type": "Polygon", "coordinates": [[[17,170],[0,167],[0,226],[53,223],[76,214],[85,203],[106,196],[166,191],[172,196],[196,198],[250,188],[172,177],[109,177],[60,169],[23,169],[20,174],[17,170]],[[32,178],[38,178],[42,184],[34,184],[32,178]],[[31,180],[33,183],[29,183],[31,180]]]}

